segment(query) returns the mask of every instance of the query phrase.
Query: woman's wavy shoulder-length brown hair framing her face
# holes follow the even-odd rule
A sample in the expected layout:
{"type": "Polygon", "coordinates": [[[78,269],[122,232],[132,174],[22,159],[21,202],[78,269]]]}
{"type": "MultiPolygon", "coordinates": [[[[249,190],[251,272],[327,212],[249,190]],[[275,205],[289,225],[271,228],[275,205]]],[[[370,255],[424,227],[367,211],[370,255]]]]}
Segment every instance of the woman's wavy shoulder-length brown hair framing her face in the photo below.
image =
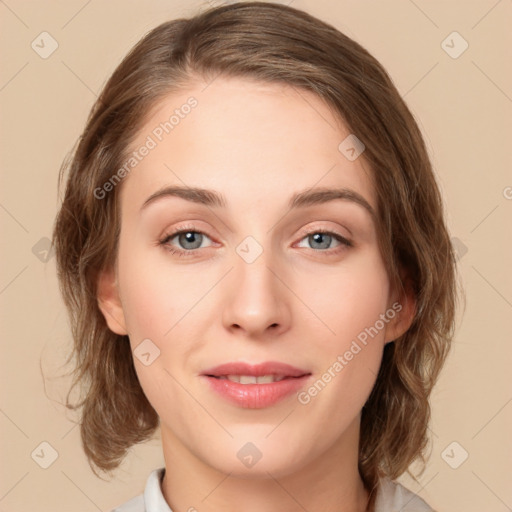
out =
{"type": "MultiPolygon", "coordinates": [[[[121,167],[159,100],[194,76],[219,74],[312,91],[366,146],[390,281],[412,288],[417,301],[408,331],[385,346],[362,411],[359,471],[375,491],[380,477],[394,479],[418,458],[425,463],[428,399],[454,332],[456,259],[423,138],[386,71],[331,25],[283,5],[242,2],[159,25],[124,58],[94,104],[59,174],[60,186],[69,171],[53,233],[74,339],[71,389],[81,384],[83,393],[75,405],[68,393],[66,405],[82,410],[82,444],[96,474],[95,467],[119,466],[158,427],[128,337],[109,330],[97,303],[99,273],[116,260],[122,183],[101,200],[94,191],[121,167]]],[[[374,499],[371,492],[370,510],[374,499]]]]}

